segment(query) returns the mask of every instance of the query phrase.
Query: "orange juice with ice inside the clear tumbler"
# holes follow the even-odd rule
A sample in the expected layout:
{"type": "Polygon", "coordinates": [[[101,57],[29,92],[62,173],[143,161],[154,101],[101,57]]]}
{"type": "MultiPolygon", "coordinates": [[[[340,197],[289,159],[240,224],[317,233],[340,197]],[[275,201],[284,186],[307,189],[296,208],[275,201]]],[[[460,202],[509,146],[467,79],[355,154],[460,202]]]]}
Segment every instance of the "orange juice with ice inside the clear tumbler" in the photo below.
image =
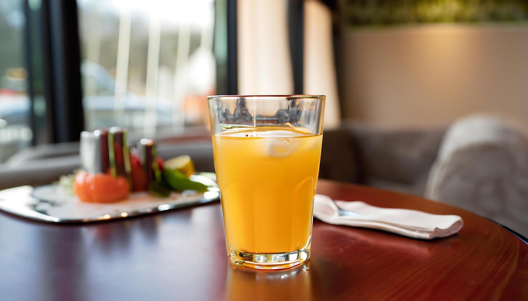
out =
{"type": "Polygon", "coordinates": [[[230,255],[309,249],[322,140],[291,126],[213,135],[230,255]]]}

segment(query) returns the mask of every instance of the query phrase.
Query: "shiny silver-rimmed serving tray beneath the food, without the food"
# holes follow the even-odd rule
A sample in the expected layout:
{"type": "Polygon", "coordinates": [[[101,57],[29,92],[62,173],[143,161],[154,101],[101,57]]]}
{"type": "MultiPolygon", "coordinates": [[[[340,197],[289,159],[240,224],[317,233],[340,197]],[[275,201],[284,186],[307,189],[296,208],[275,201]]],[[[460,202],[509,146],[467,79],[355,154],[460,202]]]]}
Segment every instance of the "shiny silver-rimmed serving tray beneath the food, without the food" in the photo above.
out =
{"type": "Polygon", "coordinates": [[[203,193],[190,190],[173,192],[168,198],[158,198],[148,192],[133,192],[128,199],[115,203],[82,202],[56,184],[9,188],[0,190],[0,210],[53,223],[128,218],[220,200],[220,190],[214,176],[208,174],[209,177],[191,176],[193,181],[210,186],[208,191],[203,193]]]}

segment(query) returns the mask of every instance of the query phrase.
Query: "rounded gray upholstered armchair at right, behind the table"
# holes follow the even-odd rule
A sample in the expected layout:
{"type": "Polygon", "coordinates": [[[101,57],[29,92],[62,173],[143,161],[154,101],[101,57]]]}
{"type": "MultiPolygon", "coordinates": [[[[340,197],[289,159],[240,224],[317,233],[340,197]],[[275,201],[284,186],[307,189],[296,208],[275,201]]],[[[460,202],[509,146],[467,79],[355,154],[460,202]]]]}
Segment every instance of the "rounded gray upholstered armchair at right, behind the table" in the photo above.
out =
{"type": "Polygon", "coordinates": [[[451,125],[425,197],[466,209],[528,236],[528,139],[492,116],[451,125]]]}

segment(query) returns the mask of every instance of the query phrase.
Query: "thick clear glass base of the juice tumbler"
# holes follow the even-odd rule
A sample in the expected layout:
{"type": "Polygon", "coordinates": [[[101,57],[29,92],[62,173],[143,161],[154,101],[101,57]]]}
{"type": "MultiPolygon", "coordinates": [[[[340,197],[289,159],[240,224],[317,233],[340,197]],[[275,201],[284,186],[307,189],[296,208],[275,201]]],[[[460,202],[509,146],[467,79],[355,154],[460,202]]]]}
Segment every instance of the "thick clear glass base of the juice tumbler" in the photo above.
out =
{"type": "Polygon", "coordinates": [[[237,266],[254,269],[278,270],[289,269],[303,264],[310,257],[310,249],[299,249],[288,253],[247,253],[228,251],[229,259],[237,266]]]}

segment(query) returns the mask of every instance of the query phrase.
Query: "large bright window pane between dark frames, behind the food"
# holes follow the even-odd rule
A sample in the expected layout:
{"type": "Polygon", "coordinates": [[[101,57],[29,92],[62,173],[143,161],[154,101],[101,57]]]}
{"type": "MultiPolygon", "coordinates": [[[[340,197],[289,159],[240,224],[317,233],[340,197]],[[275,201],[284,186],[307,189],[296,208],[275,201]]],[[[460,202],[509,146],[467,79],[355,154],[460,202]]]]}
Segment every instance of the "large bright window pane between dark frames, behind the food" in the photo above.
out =
{"type": "Polygon", "coordinates": [[[87,130],[202,125],[214,94],[214,2],[78,0],[87,130]]]}

